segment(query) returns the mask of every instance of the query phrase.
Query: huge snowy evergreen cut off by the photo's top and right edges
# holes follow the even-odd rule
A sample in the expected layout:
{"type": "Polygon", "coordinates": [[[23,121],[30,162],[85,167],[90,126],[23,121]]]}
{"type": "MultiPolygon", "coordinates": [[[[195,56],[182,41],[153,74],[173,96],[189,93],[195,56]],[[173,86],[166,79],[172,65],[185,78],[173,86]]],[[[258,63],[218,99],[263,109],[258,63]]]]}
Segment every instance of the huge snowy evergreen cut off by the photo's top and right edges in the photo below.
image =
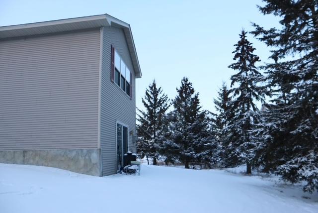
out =
{"type": "Polygon", "coordinates": [[[265,148],[272,171],[293,183],[307,181],[305,191],[318,190],[318,1],[264,0],[266,14],[281,17],[281,28],[252,32],[273,47],[274,63],[266,66],[277,130],[265,148]]]}

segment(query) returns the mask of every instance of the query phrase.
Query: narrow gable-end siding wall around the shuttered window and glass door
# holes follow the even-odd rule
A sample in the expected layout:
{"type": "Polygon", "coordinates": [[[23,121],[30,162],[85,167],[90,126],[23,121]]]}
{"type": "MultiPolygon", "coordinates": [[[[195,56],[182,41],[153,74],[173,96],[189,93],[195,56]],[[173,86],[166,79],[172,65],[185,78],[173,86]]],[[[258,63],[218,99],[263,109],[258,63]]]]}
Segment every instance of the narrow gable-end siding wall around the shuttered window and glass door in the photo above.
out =
{"type": "MultiPolygon", "coordinates": [[[[100,147],[102,175],[116,173],[116,120],[128,125],[136,134],[135,72],[124,32],[116,27],[103,28],[101,70],[100,147]],[[132,99],[111,81],[111,45],[132,72],[132,99]]],[[[129,150],[136,152],[133,136],[129,134],[129,150]]]]}

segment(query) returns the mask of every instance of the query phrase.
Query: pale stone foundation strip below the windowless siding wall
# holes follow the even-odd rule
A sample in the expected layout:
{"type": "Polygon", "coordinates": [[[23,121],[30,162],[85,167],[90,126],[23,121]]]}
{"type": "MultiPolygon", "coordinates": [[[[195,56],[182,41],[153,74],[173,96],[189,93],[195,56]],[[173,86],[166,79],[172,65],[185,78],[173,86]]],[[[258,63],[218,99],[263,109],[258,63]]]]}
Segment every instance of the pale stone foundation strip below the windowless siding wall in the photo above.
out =
{"type": "Polygon", "coordinates": [[[49,166],[101,176],[100,149],[0,151],[0,163],[49,166]]]}

